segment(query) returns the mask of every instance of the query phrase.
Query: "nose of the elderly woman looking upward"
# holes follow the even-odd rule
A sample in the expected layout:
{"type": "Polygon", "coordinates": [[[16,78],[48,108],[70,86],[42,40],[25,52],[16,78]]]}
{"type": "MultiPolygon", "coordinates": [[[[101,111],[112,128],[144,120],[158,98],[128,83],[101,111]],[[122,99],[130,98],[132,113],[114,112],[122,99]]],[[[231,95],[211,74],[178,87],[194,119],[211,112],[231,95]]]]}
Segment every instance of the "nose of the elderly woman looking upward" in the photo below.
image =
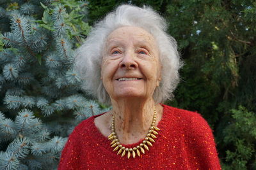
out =
{"type": "Polygon", "coordinates": [[[136,67],[138,67],[138,64],[134,59],[134,53],[126,52],[119,66],[124,69],[135,69],[136,67]]]}

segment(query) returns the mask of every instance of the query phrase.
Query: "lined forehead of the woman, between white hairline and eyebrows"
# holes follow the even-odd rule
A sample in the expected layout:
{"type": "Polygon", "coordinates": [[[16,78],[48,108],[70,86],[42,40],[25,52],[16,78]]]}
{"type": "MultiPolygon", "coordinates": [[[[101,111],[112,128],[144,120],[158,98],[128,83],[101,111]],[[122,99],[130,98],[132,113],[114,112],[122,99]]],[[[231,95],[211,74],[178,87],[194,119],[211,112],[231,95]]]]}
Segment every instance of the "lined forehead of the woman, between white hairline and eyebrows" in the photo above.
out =
{"type": "Polygon", "coordinates": [[[125,38],[150,43],[152,45],[156,43],[152,34],[145,31],[145,29],[134,26],[124,26],[115,29],[111,34],[109,34],[107,41],[108,43],[111,43],[112,41],[115,42],[125,38]]]}

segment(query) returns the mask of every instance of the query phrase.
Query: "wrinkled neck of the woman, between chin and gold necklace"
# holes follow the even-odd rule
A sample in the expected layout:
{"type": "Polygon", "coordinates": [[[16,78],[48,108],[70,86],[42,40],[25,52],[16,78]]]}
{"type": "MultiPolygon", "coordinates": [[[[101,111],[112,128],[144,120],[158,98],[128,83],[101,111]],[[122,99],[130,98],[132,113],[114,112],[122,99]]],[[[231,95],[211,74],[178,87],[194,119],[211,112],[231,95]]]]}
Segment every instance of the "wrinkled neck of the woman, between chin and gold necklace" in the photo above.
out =
{"type": "Polygon", "coordinates": [[[115,132],[120,143],[136,143],[145,138],[154,115],[154,99],[112,101],[115,132]]]}

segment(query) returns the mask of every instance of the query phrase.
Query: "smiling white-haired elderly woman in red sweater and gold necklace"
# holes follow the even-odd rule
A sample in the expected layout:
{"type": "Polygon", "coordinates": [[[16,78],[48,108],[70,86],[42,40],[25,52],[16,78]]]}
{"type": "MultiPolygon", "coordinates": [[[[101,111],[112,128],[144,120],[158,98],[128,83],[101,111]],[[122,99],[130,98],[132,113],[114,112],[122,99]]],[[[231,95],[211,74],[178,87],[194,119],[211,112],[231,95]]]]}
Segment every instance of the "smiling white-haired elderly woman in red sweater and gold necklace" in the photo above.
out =
{"type": "Polygon", "coordinates": [[[166,106],[179,81],[175,40],[151,8],[118,6],[79,48],[84,89],[112,110],[70,134],[58,169],[220,169],[198,113],[166,106]]]}

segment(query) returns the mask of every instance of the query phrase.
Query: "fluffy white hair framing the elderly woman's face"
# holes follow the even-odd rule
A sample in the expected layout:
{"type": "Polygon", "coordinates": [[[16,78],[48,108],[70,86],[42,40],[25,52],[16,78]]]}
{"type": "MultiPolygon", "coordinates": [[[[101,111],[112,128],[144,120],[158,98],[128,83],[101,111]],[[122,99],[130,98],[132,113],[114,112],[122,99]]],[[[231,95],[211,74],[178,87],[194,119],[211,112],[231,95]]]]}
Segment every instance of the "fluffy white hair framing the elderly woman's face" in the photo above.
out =
{"type": "Polygon", "coordinates": [[[108,13],[93,27],[86,41],[77,49],[75,68],[83,80],[83,89],[104,104],[111,104],[110,97],[100,80],[102,50],[109,34],[118,27],[135,26],[145,29],[156,39],[161,62],[161,83],[154,91],[154,101],[163,103],[173,98],[173,90],[179,83],[179,68],[182,66],[177,43],[166,34],[167,25],[163,17],[148,6],[139,8],[128,4],[120,5],[108,13]]]}

